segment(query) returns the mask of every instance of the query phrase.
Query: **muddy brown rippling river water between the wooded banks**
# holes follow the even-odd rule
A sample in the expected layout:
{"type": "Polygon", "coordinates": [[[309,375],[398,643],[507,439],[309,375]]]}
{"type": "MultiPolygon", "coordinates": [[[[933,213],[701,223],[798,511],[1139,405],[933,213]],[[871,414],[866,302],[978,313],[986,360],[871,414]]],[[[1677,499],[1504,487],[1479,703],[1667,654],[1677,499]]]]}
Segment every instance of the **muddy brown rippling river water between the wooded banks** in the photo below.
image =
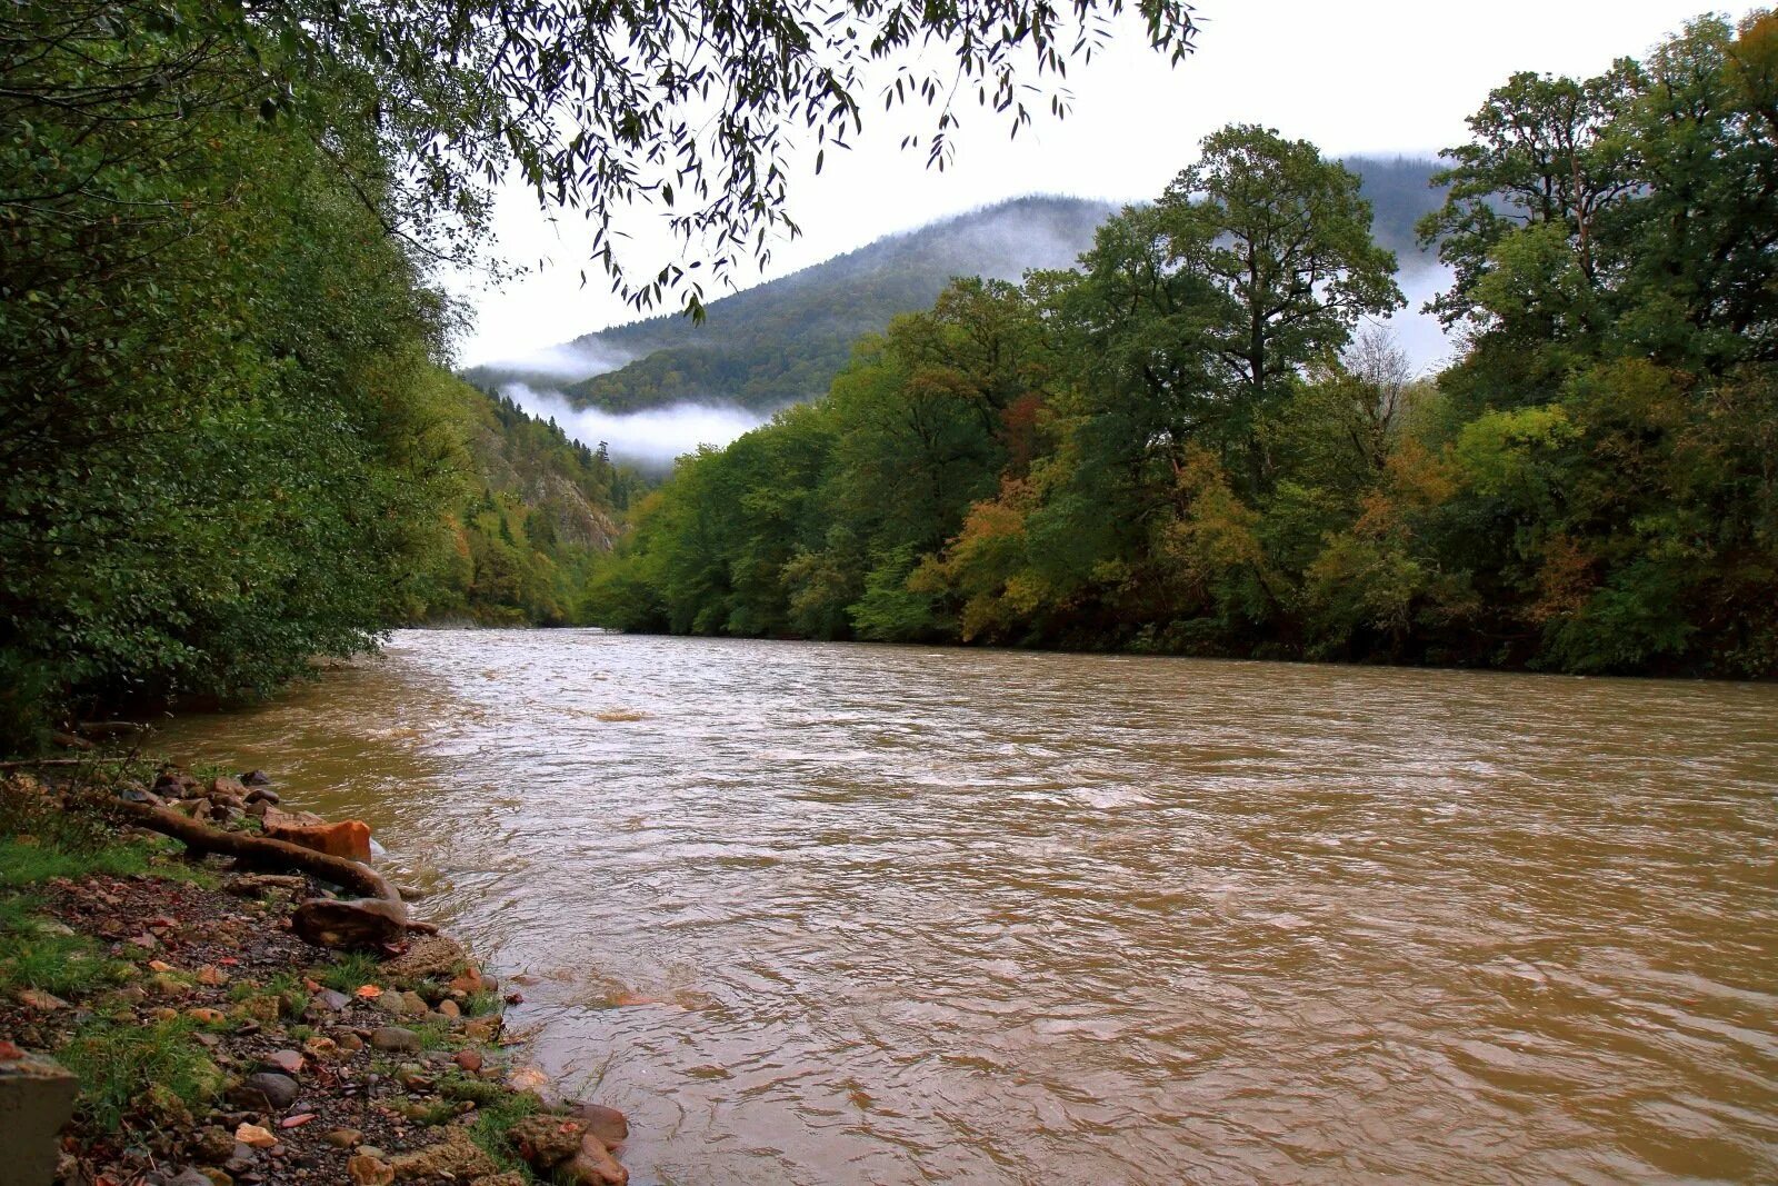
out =
{"type": "Polygon", "coordinates": [[[1778,1181],[1778,686],[404,631],[164,743],[638,1184],[1778,1181]]]}

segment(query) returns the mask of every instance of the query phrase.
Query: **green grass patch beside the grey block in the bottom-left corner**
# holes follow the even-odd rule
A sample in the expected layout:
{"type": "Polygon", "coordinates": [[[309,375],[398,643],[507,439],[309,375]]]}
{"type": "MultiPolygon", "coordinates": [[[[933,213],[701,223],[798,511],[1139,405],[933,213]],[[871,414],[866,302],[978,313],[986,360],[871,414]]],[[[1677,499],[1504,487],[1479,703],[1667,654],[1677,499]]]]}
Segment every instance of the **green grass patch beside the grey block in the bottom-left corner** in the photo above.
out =
{"type": "Polygon", "coordinates": [[[226,1078],[192,1040],[196,1028],[188,1017],[146,1026],[108,1021],[82,1026],[57,1053],[80,1078],[82,1113],[116,1133],[132,1104],[156,1085],[192,1111],[208,1108],[226,1078]]]}

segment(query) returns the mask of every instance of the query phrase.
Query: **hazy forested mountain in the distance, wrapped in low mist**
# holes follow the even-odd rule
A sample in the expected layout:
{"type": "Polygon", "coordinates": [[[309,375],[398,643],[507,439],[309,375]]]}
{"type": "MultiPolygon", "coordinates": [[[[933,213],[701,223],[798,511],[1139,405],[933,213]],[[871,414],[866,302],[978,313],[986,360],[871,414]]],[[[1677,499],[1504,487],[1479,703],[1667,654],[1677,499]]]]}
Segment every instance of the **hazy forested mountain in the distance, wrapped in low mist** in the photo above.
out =
{"type": "MultiPolygon", "coordinates": [[[[1346,164],[1376,208],[1378,240],[1410,268],[1414,222],[1438,204],[1430,188],[1433,162],[1346,164]]],[[[898,313],[930,308],[951,277],[1017,281],[1028,268],[1069,267],[1115,212],[1077,197],[1019,197],[713,301],[702,325],[669,315],[576,338],[555,354],[585,359],[581,373],[590,377],[565,388],[560,370],[475,368],[466,377],[478,386],[557,388],[574,407],[608,413],[670,404],[772,411],[823,395],[859,336],[882,331],[898,313]]]]}

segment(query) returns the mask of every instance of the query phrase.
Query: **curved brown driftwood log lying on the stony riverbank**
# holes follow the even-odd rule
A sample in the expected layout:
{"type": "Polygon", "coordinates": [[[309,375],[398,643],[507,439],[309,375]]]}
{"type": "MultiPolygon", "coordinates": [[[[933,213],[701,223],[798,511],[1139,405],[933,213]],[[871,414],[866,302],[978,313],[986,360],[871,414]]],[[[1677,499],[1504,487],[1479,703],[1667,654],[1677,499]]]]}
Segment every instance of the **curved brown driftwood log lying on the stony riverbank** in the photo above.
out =
{"type": "Polygon", "coordinates": [[[430,923],[411,919],[402,894],[368,864],[331,857],[281,839],[224,832],[167,807],[126,800],[105,805],[139,827],[181,841],[192,852],[215,852],[261,868],[300,869],[363,894],[356,902],[311,898],[300,903],[290,923],[309,942],[329,948],[377,948],[400,942],[409,932],[437,932],[437,926],[430,923]]]}

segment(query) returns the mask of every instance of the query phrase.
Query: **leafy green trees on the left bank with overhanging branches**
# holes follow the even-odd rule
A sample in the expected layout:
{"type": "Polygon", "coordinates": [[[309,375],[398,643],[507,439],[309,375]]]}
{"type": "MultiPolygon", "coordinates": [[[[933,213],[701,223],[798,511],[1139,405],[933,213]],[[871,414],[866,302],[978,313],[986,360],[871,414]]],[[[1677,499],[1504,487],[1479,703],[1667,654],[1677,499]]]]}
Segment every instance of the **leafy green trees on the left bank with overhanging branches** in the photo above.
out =
{"type": "MultiPolygon", "coordinates": [[[[573,213],[629,308],[697,317],[795,231],[791,156],[862,132],[866,64],[942,164],[941,68],[1017,128],[1118,7],[0,5],[0,750],[263,697],[404,622],[562,621],[635,477],[450,373],[439,277],[510,272],[498,188],[573,213]],[[626,249],[635,210],[676,258],[626,249]]],[[[1189,52],[1188,7],[1143,14],[1189,52]]]]}

